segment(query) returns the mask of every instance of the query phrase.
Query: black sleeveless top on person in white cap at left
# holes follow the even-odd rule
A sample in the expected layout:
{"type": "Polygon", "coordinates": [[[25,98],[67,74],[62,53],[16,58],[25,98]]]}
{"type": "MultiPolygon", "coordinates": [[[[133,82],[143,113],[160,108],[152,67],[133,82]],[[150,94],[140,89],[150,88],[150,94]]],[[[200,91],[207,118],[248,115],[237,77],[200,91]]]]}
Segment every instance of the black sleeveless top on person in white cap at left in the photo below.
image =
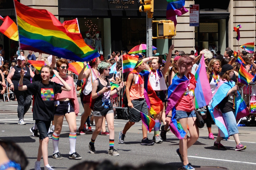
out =
{"type": "MultiPolygon", "coordinates": [[[[18,90],[21,68],[19,66],[14,66],[13,68],[15,69],[15,72],[14,72],[13,77],[12,77],[12,83],[14,85],[14,90],[18,90]]],[[[28,84],[31,83],[30,82],[30,70],[29,70],[28,66],[25,66],[24,68],[23,68],[23,70],[25,71],[25,75],[24,75],[24,78],[23,78],[23,85],[28,85],[28,84]]]]}

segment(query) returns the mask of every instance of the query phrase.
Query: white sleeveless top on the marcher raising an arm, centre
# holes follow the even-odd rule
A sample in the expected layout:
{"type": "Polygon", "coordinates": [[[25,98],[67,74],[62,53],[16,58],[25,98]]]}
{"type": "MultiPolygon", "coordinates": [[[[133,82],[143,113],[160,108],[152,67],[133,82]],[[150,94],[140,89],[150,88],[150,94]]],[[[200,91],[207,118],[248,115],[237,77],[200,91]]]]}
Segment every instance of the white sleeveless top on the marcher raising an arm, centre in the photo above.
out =
{"type": "Polygon", "coordinates": [[[159,73],[162,75],[160,77],[156,72],[151,71],[148,77],[149,83],[154,91],[162,91],[167,90],[167,86],[165,84],[164,75],[162,71],[159,71],[159,73]]]}

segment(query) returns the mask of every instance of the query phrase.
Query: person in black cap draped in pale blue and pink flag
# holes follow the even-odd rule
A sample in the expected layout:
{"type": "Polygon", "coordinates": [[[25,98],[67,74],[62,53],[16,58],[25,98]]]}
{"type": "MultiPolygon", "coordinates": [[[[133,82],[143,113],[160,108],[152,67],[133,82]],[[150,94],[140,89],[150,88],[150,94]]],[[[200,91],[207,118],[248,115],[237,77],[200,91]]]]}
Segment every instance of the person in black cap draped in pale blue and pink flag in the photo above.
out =
{"type": "MultiPolygon", "coordinates": [[[[219,115],[222,115],[222,118],[225,122],[225,125],[228,130],[228,136],[233,135],[235,142],[236,142],[236,148],[235,151],[241,151],[246,149],[246,146],[242,145],[239,140],[238,135],[238,128],[236,125],[236,117],[235,117],[235,108],[236,103],[234,103],[234,98],[237,99],[241,98],[241,96],[238,93],[238,86],[236,85],[236,82],[232,81],[231,78],[234,75],[234,69],[230,64],[223,65],[221,72],[220,72],[220,82],[218,87],[215,89],[215,93],[212,96],[211,104],[208,106],[209,111],[211,112],[211,115],[213,115],[213,108],[216,108],[216,104],[218,106],[218,112],[219,115]],[[220,87],[221,90],[218,89],[220,87]],[[218,97],[215,97],[218,96],[218,97]],[[234,107],[235,106],[235,107],[234,107]]],[[[244,101],[242,101],[244,102],[244,101]]],[[[240,102],[238,102],[240,104],[240,102]]],[[[245,103],[244,103],[245,105],[245,103]]],[[[247,109],[247,108],[245,108],[247,109]]],[[[220,130],[220,129],[219,129],[220,130]]],[[[225,149],[225,146],[223,146],[220,141],[222,137],[220,136],[220,131],[218,133],[217,139],[214,142],[214,146],[219,149],[225,149]]]]}

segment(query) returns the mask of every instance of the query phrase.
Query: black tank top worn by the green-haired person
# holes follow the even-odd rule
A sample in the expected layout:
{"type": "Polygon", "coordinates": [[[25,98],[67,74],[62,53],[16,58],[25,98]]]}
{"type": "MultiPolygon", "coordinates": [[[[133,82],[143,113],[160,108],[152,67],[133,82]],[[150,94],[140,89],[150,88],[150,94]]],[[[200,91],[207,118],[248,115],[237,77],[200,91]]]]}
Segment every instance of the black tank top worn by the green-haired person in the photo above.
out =
{"type": "MultiPolygon", "coordinates": [[[[102,85],[100,83],[100,79],[97,78],[98,87],[97,87],[96,92],[99,92],[101,89],[103,89],[103,87],[110,86],[108,79],[107,78],[105,78],[105,79],[107,81],[106,86],[102,85]]],[[[110,101],[110,92],[111,92],[111,90],[109,90],[108,92],[104,92],[104,93],[100,94],[100,96],[95,99],[95,103],[93,106],[94,111],[99,111],[100,113],[107,114],[109,110],[113,109],[112,102],[110,101]]]]}

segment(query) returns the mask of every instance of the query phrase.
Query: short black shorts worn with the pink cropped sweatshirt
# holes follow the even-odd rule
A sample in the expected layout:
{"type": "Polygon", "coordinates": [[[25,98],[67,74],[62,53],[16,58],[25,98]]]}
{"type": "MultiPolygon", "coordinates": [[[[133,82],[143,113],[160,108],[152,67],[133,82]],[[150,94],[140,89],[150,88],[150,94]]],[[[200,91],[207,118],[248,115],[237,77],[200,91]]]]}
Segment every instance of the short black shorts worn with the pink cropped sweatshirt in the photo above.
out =
{"type": "Polygon", "coordinates": [[[74,107],[69,101],[55,101],[55,114],[54,115],[65,115],[66,113],[75,112],[74,107]]]}

